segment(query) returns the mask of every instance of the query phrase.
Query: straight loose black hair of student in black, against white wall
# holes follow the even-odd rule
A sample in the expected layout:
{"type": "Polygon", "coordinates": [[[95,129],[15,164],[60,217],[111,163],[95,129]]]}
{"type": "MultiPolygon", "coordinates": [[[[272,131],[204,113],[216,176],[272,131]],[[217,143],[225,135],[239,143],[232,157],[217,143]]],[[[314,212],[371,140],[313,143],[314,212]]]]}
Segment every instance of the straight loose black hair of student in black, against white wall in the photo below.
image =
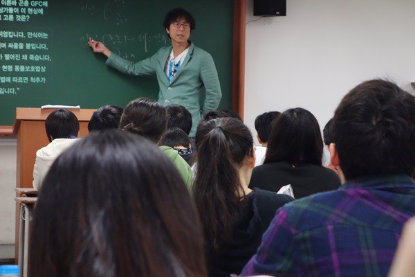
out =
{"type": "Polygon", "coordinates": [[[287,109],[273,123],[265,163],[322,165],[323,140],[317,119],[302,108],[287,109]]]}

